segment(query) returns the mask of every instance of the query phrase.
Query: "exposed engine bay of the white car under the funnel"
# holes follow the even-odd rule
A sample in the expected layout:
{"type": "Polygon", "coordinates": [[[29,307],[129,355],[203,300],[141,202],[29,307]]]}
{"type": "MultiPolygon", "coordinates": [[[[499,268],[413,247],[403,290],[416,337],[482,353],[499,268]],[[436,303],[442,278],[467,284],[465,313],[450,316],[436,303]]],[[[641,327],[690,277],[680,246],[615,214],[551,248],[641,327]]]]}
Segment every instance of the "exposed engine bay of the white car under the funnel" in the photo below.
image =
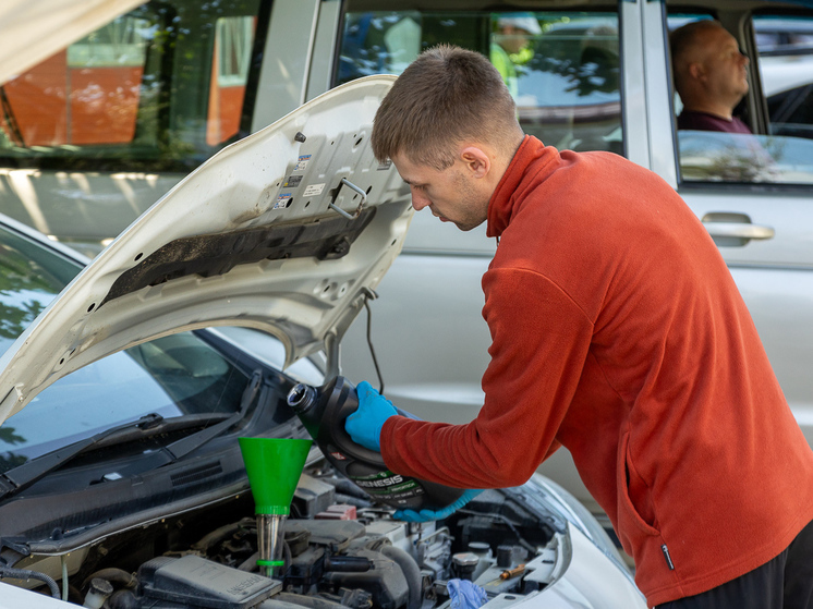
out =
{"type": "Polygon", "coordinates": [[[294,495],[281,578],[256,564],[250,492],[59,557],[32,552],[10,564],[5,544],[0,573],[102,609],[428,609],[450,605],[450,580],[472,581],[489,599],[521,598],[555,581],[569,553],[560,519],[523,488],[484,491],[446,521],[405,523],[323,461],[294,495]]]}

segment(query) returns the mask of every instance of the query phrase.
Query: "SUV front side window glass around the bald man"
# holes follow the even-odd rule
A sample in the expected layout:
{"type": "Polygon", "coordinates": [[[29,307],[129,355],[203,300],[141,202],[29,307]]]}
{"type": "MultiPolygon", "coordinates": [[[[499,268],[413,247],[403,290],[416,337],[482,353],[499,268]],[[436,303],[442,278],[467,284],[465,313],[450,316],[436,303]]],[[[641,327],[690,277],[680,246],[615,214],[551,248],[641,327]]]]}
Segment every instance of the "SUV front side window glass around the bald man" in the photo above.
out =
{"type": "MultiPolygon", "coordinates": [[[[669,29],[709,15],[672,14],[669,29]]],[[[683,182],[813,183],[813,19],[759,15],[752,19],[762,88],[750,78],[748,99],[735,109],[753,134],[679,130],[683,182]],[[748,108],[767,108],[766,131],[749,120],[748,108]]],[[[739,39],[741,49],[754,48],[739,39]]],[[[756,57],[753,57],[753,56],[756,57]]],[[[753,74],[752,65],[752,74],[753,74]]],[[[676,115],[681,111],[676,95],[676,115]]]]}

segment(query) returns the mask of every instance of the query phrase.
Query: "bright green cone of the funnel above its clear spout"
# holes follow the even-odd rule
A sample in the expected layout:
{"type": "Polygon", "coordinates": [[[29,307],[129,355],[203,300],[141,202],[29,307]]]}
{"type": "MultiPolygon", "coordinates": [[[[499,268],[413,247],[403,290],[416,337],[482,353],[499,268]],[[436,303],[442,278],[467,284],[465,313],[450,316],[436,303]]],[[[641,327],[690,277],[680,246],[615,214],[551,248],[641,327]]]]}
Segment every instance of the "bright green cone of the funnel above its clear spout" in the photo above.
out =
{"type": "Polygon", "coordinates": [[[240,438],[254,512],[287,516],[312,440],[240,438]]]}

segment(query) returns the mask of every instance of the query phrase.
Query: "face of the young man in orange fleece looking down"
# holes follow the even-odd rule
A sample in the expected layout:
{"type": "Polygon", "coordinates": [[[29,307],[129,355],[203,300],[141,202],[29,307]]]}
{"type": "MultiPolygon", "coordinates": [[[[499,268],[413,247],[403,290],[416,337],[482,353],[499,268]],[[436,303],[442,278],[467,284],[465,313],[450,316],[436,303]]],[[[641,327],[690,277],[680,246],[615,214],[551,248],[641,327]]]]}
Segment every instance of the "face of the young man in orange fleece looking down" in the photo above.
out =
{"type": "Polygon", "coordinates": [[[392,163],[412,193],[412,207],[421,211],[428,207],[441,222],[452,222],[461,231],[470,231],[488,217],[490,193],[458,160],[439,171],[417,165],[403,155],[392,157],[392,163]]]}

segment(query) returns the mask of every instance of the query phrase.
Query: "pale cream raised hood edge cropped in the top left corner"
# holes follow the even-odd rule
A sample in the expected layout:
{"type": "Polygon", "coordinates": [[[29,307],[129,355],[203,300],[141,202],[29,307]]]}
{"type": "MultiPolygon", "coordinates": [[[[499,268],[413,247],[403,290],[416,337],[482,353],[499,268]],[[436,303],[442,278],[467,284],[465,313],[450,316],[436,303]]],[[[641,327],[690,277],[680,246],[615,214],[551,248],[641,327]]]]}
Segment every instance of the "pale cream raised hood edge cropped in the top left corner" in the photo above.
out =
{"type": "Polygon", "coordinates": [[[2,0],[0,85],[144,0],[2,0]]]}

